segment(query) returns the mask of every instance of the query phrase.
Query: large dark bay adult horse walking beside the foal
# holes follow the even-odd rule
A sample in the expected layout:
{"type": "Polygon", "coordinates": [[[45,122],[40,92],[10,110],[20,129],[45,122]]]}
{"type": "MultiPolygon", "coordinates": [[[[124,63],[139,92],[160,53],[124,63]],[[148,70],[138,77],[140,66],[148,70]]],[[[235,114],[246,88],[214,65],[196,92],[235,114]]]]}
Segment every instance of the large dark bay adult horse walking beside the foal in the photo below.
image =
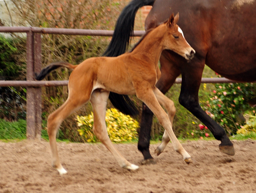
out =
{"type": "MultiPolygon", "coordinates": [[[[127,46],[129,39],[125,39],[124,34],[131,35],[134,25],[134,21],[128,23],[128,18],[133,18],[137,9],[145,5],[153,5],[145,20],[146,31],[166,20],[171,12],[179,12],[179,25],[186,40],[196,51],[195,58],[188,63],[175,52],[164,50],[160,57],[162,75],[156,86],[166,93],[181,74],[180,104],[192,112],[209,128],[214,137],[221,141],[221,152],[234,155],[233,144],[225,130],[201,109],[198,90],[205,64],[226,78],[235,81],[256,81],[255,0],[133,0],[120,14],[115,36],[106,53],[110,53],[111,49],[119,50],[120,44],[122,47],[127,46]],[[118,42],[115,42],[116,37],[119,37],[118,42]],[[120,37],[124,38],[121,40],[120,37]]],[[[111,97],[111,101],[116,103],[116,94],[111,93],[111,97]]],[[[128,99],[120,96],[118,99],[121,101],[119,109],[126,109],[128,105],[125,102],[128,99]]],[[[138,149],[143,153],[144,161],[152,161],[148,150],[152,116],[150,109],[143,104],[138,149]]],[[[156,150],[158,155],[168,142],[169,137],[164,134],[163,142],[156,150]]]]}

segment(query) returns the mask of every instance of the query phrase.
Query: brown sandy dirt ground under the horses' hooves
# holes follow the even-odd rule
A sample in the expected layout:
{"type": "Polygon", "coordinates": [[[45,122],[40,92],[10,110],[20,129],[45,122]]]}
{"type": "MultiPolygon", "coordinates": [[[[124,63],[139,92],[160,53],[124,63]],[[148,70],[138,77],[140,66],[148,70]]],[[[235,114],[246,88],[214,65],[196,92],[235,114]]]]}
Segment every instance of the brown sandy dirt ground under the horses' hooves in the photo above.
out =
{"type": "MultiPolygon", "coordinates": [[[[45,141],[0,142],[0,193],[255,193],[256,141],[233,141],[235,156],[218,141],[187,141],[194,159],[187,165],[172,144],[155,156],[157,164],[122,169],[102,144],[58,143],[68,173],[51,167],[45,141]]],[[[158,144],[150,146],[154,152],[158,144]]],[[[137,144],[115,144],[131,163],[140,164],[137,144]]]]}

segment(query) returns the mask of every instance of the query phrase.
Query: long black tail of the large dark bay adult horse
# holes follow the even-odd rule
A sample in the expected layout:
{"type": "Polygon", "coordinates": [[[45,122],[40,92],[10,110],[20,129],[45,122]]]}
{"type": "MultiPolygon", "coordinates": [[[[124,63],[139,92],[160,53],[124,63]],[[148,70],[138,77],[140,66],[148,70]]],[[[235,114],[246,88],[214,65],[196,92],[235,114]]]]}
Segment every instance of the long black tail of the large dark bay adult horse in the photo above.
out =
{"type": "MultiPolygon", "coordinates": [[[[132,0],[121,12],[104,56],[116,57],[125,53],[134,34],[135,15],[140,7],[153,5],[155,0],[132,0]]],[[[110,92],[109,99],[116,109],[126,115],[137,115],[138,110],[127,95],[110,92]]]]}

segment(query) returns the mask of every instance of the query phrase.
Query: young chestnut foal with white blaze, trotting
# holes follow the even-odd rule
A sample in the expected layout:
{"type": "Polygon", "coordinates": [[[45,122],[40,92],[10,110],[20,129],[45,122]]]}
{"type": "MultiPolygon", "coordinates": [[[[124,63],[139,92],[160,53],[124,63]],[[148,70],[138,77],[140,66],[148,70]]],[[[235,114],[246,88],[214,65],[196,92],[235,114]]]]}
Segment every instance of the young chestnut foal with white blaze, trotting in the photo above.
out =
{"type": "Polygon", "coordinates": [[[125,95],[136,94],[157,116],[171,138],[175,151],[183,156],[186,163],[191,162],[191,157],[183,149],[172,130],[175,115],[174,103],[155,87],[161,75],[158,60],[164,49],[170,49],[186,60],[194,57],[195,50],[186,42],[181,29],[176,24],[178,19],[179,14],[175,17],[172,14],[167,22],[144,35],[131,52],[118,57],[89,58],[76,66],[66,62],[55,62],[36,76],[37,80],[42,80],[53,69],[61,66],[74,69],[68,82],[67,101],[49,115],[47,123],[52,166],[60,174],[67,173],[67,171],[62,167],[58,158],[56,146],[58,127],[67,116],[88,101],[93,106],[95,135],[113,154],[121,167],[129,170],[139,168],[128,162],[116,150],[108,137],[105,112],[110,91],[125,95]],[[167,110],[169,116],[160,105],[167,110]]]}

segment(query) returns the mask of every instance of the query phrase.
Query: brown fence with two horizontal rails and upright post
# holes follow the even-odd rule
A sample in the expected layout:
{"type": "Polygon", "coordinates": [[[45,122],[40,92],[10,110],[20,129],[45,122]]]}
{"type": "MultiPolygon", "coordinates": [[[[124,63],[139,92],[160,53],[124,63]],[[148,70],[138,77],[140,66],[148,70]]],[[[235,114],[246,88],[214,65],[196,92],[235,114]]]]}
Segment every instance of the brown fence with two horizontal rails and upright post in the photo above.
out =
{"type": "MultiPolygon", "coordinates": [[[[92,35],[112,36],[111,30],[92,29],[59,29],[38,27],[0,27],[0,32],[22,32],[26,33],[26,81],[0,81],[0,86],[24,86],[26,93],[26,137],[28,139],[41,138],[42,125],[42,86],[67,86],[68,81],[35,81],[35,72],[41,71],[41,35],[92,35]]],[[[144,35],[144,31],[134,31],[134,36],[144,35]]],[[[175,83],[180,84],[181,78],[175,83]]],[[[230,83],[227,78],[202,78],[202,83],[230,83]]]]}

